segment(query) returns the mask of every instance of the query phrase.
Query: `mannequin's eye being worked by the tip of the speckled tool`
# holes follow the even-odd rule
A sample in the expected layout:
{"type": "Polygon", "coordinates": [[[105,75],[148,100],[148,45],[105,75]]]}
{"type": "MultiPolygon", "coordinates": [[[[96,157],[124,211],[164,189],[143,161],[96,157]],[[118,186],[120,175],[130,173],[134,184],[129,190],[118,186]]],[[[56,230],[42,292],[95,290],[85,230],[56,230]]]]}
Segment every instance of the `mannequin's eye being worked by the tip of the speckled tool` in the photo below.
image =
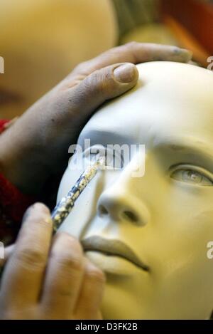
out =
{"type": "Polygon", "coordinates": [[[84,152],[84,159],[89,163],[95,162],[99,157],[105,157],[105,167],[107,169],[123,168],[123,157],[115,150],[109,150],[107,147],[90,147],[84,152]]]}

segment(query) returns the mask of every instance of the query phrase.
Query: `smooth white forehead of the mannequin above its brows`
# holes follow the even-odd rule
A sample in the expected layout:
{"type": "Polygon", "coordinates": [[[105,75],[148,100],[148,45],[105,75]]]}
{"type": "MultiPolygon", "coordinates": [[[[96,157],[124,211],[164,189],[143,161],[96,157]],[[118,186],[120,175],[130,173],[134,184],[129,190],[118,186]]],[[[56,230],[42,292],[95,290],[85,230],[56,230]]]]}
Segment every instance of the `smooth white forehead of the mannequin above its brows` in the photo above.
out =
{"type": "MultiPolygon", "coordinates": [[[[197,135],[213,139],[213,73],[181,63],[139,64],[136,88],[101,108],[84,127],[80,140],[92,133],[129,136],[144,133],[197,135]]],[[[108,136],[110,139],[110,135],[108,136]]],[[[113,140],[113,137],[111,139],[113,140]]],[[[125,140],[124,140],[125,142],[125,140]]]]}

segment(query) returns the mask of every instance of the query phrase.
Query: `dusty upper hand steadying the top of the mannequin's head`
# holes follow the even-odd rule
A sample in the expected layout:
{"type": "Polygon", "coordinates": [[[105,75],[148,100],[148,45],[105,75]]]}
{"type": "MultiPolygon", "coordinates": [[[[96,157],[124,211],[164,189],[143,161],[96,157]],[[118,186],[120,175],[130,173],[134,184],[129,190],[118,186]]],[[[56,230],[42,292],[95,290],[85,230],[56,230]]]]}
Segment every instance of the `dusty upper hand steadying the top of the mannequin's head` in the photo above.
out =
{"type": "Polygon", "coordinates": [[[26,194],[42,192],[65,169],[68,147],[94,110],[136,85],[133,64],[190,59],[175,46],[132,42],[81,63],[1,135],[0,172],[26,194]]]}

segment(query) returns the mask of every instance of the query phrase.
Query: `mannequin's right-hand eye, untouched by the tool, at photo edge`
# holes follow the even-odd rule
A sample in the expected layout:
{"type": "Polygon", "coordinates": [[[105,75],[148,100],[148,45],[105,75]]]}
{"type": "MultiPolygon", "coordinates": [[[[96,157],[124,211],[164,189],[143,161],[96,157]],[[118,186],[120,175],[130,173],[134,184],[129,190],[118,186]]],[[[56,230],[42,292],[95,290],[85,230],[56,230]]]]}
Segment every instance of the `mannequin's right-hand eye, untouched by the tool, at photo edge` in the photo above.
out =
{"type": "Polygon", "coordinates": [[[204,173],[203,171],[201,172],[192,168],[182,168],[173,171],[170,177],[180,182],[196,184],[200,186],[212,186],[212,179],[207,174],[209,173],[204,173]]]}

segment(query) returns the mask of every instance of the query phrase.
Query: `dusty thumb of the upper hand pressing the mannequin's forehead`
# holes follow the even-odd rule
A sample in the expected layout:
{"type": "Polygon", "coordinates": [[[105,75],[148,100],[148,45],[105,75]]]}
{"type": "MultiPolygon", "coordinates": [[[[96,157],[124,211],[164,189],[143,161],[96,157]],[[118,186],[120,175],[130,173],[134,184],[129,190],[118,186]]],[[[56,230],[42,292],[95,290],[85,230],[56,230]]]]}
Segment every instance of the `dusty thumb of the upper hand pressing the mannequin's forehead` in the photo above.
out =
{"type": "Polygon", "coordinates": [[[138,81],[138,70],[132,63],[121,63],[94,71],[75,88],[67,90],[72,105],[80,110],[80,118],[92,113],[106,100],[133,88],[138,81]]]}

